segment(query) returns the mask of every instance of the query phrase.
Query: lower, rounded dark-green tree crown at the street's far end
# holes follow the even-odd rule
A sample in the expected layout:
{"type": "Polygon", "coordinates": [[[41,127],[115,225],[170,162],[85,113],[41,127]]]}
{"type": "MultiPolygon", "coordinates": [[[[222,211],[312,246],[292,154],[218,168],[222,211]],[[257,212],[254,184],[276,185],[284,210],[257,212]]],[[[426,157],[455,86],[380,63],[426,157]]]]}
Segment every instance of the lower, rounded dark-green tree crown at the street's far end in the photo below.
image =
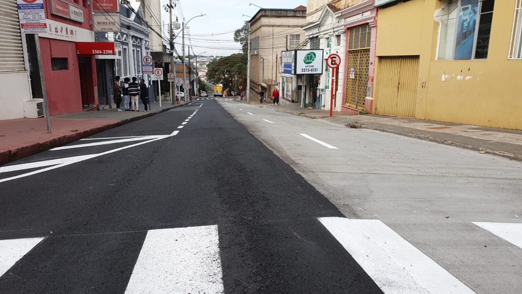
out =
{"type": "MultiPolygon", "coordinates": [[[[214,84],[223,84],[224,88],[229,88],[228,77],[238,78],[239,86],[246,85],[246,63],[247,55],[244,53],[236,53],[227,57],[218,59],[216,62],[209,63],[207,71],[207,79],[214,84]]],[[[235,81],[234,81],[235,82],[235,81]]],[[[235,88],[235,83],[232,84],[235,88]]]]}

